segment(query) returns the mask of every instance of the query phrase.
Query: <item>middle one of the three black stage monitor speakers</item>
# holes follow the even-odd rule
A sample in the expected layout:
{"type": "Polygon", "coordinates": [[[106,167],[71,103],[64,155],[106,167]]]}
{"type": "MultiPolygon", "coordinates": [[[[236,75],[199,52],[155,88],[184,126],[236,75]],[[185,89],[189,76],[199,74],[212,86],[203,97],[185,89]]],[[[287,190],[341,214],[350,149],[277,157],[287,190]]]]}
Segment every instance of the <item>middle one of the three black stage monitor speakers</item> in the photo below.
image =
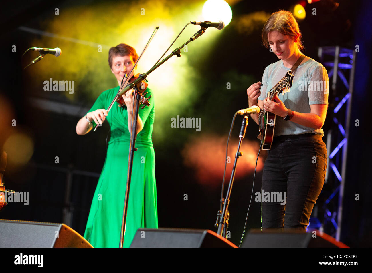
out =
{"type": "Polygon", "coordinates": [[[130,247],[237,247],[211,230],[139,228],[130,247]]]}

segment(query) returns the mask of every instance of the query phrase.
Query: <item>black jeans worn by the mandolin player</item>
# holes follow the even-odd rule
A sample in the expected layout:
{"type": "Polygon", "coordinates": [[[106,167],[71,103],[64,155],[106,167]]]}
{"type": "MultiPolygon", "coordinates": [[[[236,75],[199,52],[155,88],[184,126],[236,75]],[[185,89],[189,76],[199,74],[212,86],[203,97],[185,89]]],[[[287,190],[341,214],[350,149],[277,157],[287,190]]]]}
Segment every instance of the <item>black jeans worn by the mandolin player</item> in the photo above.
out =
{"type": "Polygon", "coordinates": [[[295,228],[306,232],[323,188],[326,167],[327,149],[320,135],[274,137],[263,168],[262,190],[285,193],[286,204],[273,198],[261,200],[262,229],[295,228]]]}

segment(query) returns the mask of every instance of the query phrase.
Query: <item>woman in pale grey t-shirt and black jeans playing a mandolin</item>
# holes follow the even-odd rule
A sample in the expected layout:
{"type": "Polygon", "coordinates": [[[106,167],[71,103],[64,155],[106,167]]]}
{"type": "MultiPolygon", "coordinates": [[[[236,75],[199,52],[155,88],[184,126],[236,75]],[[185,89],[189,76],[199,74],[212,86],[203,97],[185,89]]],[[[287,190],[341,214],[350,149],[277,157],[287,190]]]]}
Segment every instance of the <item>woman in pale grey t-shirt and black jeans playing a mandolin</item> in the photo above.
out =
{"type": "MultiPolygon", "coordinates": [[[[272,100],[267,95],[303,56],[301,38],[292,13],[281,10],[271,14],[262,29],[262,40],[279,61],[268,65],[262,81],[247,89],[249,106],[258,105],[276,115],[275,122],[266,121],[275,123],[275,130],[264,163],[262,189],[286,193],[285,205],[273,200],[261,202],[262,229],[296,228],[305,232],[325,181],[327,150],[322,127],[328,106],[328,75],[324,66],[305,56],[292,71],[290,91],[272,100]]],[[[251,117],[264,125],[259,114],[251,117]]]]}

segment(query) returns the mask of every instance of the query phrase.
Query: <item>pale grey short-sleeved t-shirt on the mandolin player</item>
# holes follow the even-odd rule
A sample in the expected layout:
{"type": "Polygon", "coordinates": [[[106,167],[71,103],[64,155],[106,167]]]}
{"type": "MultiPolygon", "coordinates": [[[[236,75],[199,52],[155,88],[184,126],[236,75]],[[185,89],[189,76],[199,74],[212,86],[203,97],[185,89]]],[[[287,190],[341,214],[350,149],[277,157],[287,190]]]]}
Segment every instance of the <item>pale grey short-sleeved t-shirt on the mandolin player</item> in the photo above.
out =
{"type": "MultiPolygon", "coordinates": [[[[268,65],[262,76],[261,95],[259,100],[267,97],[267,91],[273,88],[284,77],[289,68],[279,60],[268,65]]],[[[278,95],[284,105],[296,112],[310,113],[311,104],[328,104],[329,81],[327,70],[314,59],[300,64],[292,73],[294,75],[292,87],[289,92],[278,95]]],[[[276,117],[274,136],[314,133],[324,136],[323,129],[315,129],[283,120],[276,117]]]]}

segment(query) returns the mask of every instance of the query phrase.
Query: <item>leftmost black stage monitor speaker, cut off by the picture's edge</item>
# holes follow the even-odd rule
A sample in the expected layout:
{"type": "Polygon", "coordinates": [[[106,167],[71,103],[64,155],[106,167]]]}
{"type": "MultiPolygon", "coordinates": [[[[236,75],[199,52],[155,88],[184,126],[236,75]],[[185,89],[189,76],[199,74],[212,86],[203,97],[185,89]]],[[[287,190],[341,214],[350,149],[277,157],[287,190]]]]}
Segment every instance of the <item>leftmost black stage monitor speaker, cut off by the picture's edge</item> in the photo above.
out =
{"type": "Polygon", "coordinates": [[[92,247],[65,224],[0,220],[0,247],[92,247]]]}

